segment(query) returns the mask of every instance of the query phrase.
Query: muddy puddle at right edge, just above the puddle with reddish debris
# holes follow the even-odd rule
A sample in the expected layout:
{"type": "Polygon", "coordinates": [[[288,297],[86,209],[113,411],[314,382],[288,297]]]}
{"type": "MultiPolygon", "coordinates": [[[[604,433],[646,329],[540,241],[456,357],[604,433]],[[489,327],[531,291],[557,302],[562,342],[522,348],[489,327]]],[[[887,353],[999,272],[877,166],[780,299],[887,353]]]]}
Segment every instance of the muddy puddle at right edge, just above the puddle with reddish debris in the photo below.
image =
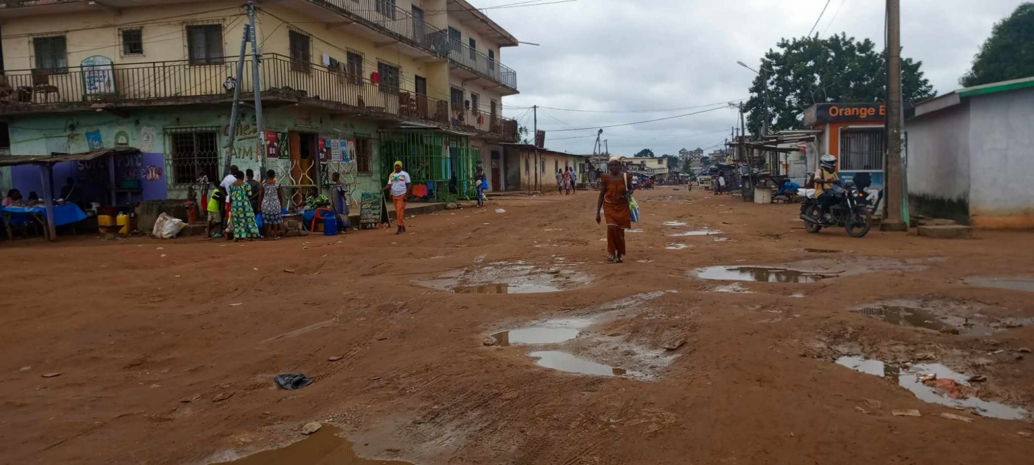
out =
{"type": "Polygon", "coordinates": [[[1010,312],[1008,309],[951,299],[894,299],[861,305],[852,311],[900,327],[965,336],[986,336],[1034,324],[1034,318],[995,316],[1010,312]]]}

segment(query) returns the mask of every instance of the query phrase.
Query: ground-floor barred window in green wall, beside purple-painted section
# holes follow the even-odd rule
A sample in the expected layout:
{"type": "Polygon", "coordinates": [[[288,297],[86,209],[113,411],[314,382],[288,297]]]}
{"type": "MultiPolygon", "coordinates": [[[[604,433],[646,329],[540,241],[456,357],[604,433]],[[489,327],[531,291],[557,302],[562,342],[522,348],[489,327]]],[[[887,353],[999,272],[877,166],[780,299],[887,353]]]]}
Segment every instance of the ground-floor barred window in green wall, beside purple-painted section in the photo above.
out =
{"type": "Polygon", "coordinates": [[[188,127],[166,129],[173,182],[190,184],[202,176],[219,182],[219,128],[188,127]]]}

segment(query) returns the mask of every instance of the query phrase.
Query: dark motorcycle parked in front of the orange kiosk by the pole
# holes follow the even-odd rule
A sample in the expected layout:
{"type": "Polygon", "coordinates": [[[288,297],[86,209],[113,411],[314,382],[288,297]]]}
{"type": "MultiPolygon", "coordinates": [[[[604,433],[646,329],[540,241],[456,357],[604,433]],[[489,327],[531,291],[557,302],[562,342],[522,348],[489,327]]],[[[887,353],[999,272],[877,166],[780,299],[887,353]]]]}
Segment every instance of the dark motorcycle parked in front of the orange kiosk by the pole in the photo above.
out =
{"type": "Polygon", "coordinates": [[[843,191],[835,192],[837,204],[829,208],[828,216],[823,217],[819,207],[816,189],[798,189],[798,194],[804,197],[800,205],[800,219],[804,221],[804,230],[816,234],[823,227],[844,226],[847,235],[861,238],[869,234],[872,225],[873,207],[869,194],[854,183],[833,182],[843,191]]]}

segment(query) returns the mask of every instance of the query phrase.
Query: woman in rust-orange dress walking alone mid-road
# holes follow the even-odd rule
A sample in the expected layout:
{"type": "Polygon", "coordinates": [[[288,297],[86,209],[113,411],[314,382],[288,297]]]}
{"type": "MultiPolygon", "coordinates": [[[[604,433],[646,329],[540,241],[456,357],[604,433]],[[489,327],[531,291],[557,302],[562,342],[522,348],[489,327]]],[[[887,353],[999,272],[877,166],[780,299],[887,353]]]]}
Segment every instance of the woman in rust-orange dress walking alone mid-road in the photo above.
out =
{"type": "Polygon", "coordinates": [[[600,209],[607,219],[607,261],[620,264],[625,256],[625,229],[632,228],[629,196],[632,184],[621,162],[607,163],[609,173],[600,177],[600,200],[596,206],[596,223],[600,224],[600,209]]]}

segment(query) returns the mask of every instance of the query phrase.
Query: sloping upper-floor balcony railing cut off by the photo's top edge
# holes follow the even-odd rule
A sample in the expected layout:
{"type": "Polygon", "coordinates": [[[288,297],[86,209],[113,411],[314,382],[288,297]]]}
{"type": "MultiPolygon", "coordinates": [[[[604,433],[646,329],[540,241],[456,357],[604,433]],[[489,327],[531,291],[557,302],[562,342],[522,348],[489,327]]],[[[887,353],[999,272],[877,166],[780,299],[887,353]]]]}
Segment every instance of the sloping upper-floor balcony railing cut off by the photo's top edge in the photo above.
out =
{"type": "Polygon", "coordinates": [[[445,58],[449,54],[446,31],[386,0],[308,0],[334,10],[389,37],[445,58]]]}

